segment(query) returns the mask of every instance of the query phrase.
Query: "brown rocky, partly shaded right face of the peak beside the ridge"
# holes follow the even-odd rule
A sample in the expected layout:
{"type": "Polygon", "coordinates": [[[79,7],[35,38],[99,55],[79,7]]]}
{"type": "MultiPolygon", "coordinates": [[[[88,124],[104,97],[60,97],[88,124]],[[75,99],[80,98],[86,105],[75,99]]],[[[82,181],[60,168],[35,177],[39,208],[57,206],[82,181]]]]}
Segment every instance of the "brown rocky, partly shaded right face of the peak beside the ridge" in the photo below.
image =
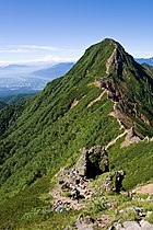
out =
{"type": "MultiPolygon", "coordinates": [[[[152,79],[118,43],[114,41],[110,43],[114,45],[114,50],[106,61],[106,76],[96,79],[95,85],[104,89],[108,99],[116,104],[114,112],[119,114],[118,118],[126,129],[139,122],[148,127],[152,125],[152,112],[149,108],[146,113],[146,107],[143,106],[145,102],[140,97],[143,99],[148,91],[148,101],[152,101],[152,79]],[[134,122],[133,118],[136,118],[134,122]]],[[[136,133],[137,136],[144,137],[139,127],[136,127],[136,133]]]]}

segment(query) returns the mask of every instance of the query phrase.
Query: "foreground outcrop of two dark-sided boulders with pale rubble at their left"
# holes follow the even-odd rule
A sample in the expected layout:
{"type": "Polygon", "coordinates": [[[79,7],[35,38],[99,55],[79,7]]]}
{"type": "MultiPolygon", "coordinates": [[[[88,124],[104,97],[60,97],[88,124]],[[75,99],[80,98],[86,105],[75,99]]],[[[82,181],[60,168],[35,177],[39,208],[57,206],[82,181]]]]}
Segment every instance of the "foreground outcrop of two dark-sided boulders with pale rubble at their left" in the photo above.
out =
{"type": "Polygon", "coordinates": [[[125,173],[121,170],[109,172],[109,161],[105,148],[94,146],[90,150],[83,149],[74,168],[63,168],[56,174],[57,184],[49,193],[54,198],[55,209],[80,210],[84,208],[95,193],[91,179],[103,173],[107,174],[98,189],[120,191],[125,173]],[[117,180],[118,183],[114,184],[113,180],[117,180]],[[74,189],[79,192],[79,196],[75,198],[73,197],[74,189]]]}

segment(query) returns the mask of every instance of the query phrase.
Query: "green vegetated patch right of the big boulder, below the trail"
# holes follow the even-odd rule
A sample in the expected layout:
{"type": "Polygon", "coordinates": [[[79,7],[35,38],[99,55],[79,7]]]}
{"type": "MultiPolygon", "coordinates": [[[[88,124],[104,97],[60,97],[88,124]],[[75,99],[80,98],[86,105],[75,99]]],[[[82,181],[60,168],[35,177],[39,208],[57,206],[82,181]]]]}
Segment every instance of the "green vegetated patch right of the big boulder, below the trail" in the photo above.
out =
{"type": "Polygon", "coordinates": [[[141,141],[120,149],[120,141],[109,149],[110,168],[125,170],[123,186],[130,189],[153,179],[153,142],[141,141]]]}

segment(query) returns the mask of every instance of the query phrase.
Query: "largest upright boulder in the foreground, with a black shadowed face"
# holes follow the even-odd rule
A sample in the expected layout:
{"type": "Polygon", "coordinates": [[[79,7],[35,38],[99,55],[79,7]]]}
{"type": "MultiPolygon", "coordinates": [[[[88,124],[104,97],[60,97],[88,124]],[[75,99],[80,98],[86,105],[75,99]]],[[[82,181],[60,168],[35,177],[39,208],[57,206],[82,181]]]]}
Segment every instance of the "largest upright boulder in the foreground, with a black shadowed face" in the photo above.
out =
{"type": "Polygon", "coordinates": [[[93,179],[109,171],[109,161],[105,148],[94,146],[90,150],[82,150],[75,165],[79,175],[93,179]]]}

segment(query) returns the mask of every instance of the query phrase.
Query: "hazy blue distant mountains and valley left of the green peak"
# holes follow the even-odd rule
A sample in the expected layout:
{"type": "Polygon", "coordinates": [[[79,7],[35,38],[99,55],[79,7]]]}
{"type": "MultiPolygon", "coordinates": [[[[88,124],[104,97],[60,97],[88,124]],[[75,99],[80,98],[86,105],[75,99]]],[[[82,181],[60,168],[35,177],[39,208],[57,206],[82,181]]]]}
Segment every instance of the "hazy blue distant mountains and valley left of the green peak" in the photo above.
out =
{"type": "Polygon", "coordinates": [[[9,65],[0,67],[0,96],[17,93],[34,93],[69,71],[73,62],[46,66],[9,65]]]}

